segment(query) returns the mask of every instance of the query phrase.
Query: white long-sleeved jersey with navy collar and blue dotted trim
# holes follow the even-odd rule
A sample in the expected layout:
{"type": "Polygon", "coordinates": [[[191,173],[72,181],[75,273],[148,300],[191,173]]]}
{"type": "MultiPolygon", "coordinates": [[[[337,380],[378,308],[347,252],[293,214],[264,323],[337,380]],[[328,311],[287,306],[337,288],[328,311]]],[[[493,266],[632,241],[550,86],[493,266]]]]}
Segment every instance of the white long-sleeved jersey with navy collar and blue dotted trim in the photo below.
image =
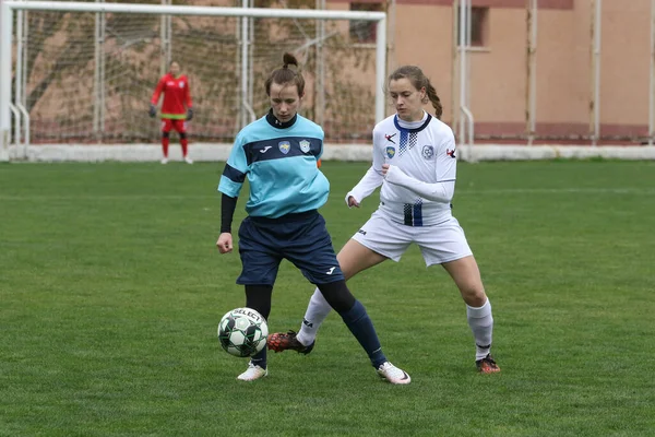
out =
{"type": "MultiPolygon", "coordinates": [[[[397,115],[388,117],[373,129],[372,170],[380,175],[383,164],[394,165],[422,182],[454,184],[457,160],[453,131],[429,114],[415,129],[403,128],[397,115]]],[[[409,226],[431,226],[452,216],[450,202],[424,199],[386,180],[380,191],[379,210],[394,222],[409,226]]]]}

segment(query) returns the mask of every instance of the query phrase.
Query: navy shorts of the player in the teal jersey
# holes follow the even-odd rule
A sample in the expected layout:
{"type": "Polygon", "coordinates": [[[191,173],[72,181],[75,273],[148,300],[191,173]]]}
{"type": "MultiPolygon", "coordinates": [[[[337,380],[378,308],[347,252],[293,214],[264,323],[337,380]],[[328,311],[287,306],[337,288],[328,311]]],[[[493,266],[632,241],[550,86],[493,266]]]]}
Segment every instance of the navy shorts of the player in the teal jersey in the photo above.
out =
{"type": "Polygon", "coordinates": [[[241,285],[273,285],[283,259],[314,285],[344,280],[325,220],[312,210],[278,218],[248,216],[239,227],[241,285]]]}

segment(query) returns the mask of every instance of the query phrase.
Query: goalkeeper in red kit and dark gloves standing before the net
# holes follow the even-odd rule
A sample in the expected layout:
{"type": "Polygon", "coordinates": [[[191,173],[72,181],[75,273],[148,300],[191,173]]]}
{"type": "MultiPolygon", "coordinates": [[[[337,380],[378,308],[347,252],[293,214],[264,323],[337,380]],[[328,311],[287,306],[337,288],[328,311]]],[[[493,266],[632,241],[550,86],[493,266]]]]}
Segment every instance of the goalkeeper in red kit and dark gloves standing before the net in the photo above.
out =
{"type": "Polygon", "coordinates": [[[187,121],[193,118],[193,105],[191,91],[189,90],[189,79],[181,74],[178,62],[170,62],[168,73],[159,79],[151,99],[148,114],[154,118],[157,115],[159,95],[164,93],[164,103],[162,104],[162,152],[164,157],[162,164],[168,164],[168,144],[172,129],[180,135],[184,162],[193,164],[193,161],[189,157],[189,139],[187,138],[187,121]]]}

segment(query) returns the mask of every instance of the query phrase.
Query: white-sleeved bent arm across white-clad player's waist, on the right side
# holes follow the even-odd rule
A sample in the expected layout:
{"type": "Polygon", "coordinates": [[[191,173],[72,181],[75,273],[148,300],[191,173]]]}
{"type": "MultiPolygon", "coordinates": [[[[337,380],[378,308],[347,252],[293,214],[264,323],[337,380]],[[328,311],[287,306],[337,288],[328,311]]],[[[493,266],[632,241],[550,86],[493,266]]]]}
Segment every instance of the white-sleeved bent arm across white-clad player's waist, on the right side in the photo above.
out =
{"type": "Polygon", "coordinates": [[[386,169],[385,180],[412,190],[424,199],[433,202],[450,203],[455,193],[457,165],[457,160],[455,158],[455,140],[451,131],[448,132],[445,140],[437,147],[436,153],[436,176],[438,182],[428,184],[407,176],[395,165],[390,165],[386,169]]]}

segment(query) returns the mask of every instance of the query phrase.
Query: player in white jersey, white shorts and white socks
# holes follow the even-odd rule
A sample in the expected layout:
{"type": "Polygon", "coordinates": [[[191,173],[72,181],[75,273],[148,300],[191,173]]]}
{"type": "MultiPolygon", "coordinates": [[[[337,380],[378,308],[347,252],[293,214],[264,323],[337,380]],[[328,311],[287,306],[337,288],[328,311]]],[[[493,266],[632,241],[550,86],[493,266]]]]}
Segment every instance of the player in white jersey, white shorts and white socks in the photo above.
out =
{"type": "MultiPolygon", "coordinates": [[[[373,164],[346,194],[348,206],[359,206],[381,185],[380,205],[338,252],[341,269],[348,280],[386,259],[400,261],[409,245],[417,244],[426,264],[443,265],[460,288],[477,369],[499,371],[490,354],[491,305],[464,231],[451,214],[457,163],[453,132],[439,120],[441,102],[418,67],[398,68],[388,86],[396,114],[374,127],[373,164]],[[428,102],[437,117],[424,110],[428,102]]],[[[300,331],[271,334],[269,349],[311,352],[329,312],[330,305],[315,290],[300,331]]]]}

